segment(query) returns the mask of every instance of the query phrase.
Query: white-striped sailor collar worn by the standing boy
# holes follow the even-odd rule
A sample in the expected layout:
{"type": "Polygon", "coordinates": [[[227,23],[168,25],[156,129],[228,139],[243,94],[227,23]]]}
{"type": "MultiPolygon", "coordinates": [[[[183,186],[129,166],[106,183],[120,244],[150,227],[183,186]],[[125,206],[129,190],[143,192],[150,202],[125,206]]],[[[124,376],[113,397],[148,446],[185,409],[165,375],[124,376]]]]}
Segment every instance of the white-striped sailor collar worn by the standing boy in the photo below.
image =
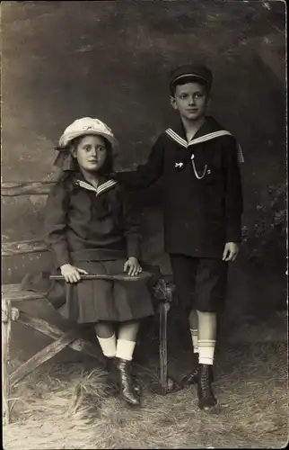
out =
{"type": "MultiPolygon", "coordinates": [[[[195,134],[193,139],[189,140],[189,142],[187,139],[184,139],[184,137],[182,137],[185,136],[185,130],[182,123],[180,123],[179,127],[177,126],[174,128],[179,132],[168,128],[167,130],[165,130],[165,133],[169,136],[170,139],[174,140],[175,142],[177,142],[177,144],[184,148],[190,148],[193,145],[206,142],[207,140],[216,139],[221,136],[232,136],[232,133],[230,131],[223,130],[222,127],[211,117],[206,118],[205,123],[199,128],[199,130],[197,130],[197,133],[195,134]]],[[[237,143],[237,147],[238,160],[240,163],[243,163],[244,156],[239,143],[237,143]]]]}

